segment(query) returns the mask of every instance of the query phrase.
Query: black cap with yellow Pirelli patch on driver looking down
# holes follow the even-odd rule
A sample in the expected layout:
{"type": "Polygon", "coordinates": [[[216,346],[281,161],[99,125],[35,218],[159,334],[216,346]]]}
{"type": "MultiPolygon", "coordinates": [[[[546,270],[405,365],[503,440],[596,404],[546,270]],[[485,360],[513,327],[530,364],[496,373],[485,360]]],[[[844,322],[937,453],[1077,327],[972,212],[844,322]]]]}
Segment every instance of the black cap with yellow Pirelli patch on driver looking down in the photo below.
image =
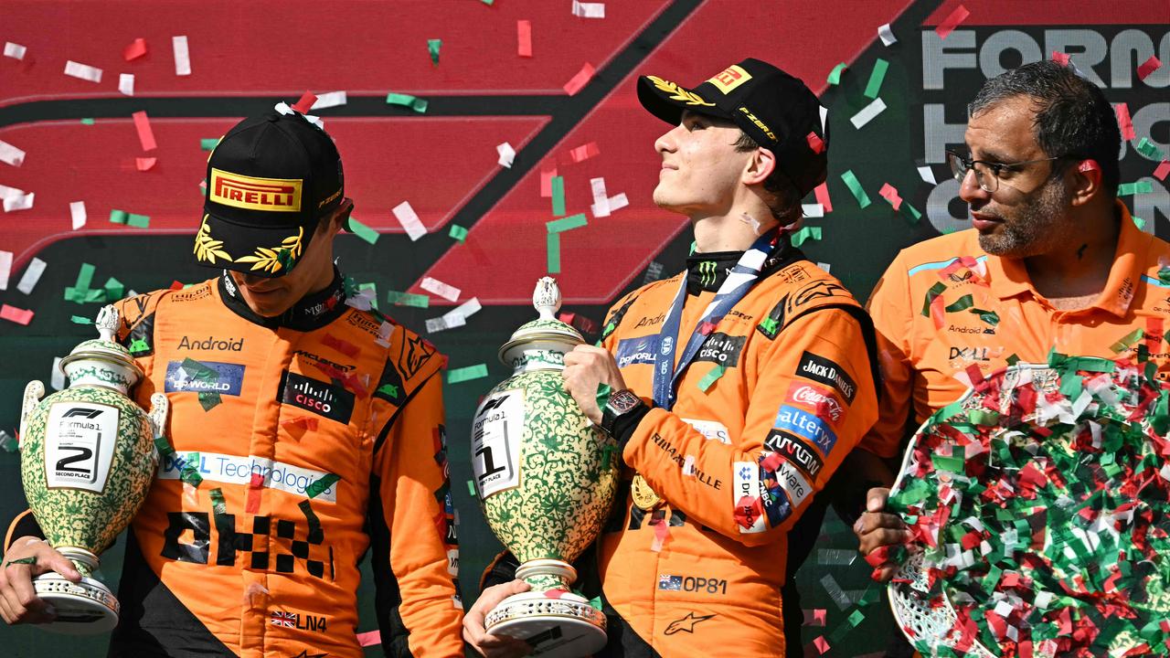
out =
{"type": "Polygon", "coordinates": [[[344,199],[342,158],[324,130],[296,111],[238,123],[207,160],[195,261],[282,276],[304,255],[318,220],[344,199]]]}

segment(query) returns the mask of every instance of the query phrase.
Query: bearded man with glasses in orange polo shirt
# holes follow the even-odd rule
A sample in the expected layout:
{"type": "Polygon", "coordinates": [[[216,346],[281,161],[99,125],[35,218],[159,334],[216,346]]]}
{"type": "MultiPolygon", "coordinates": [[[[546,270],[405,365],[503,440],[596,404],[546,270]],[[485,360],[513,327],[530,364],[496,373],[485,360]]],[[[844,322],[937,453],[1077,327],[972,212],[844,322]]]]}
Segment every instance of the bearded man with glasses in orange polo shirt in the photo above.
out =
{"type": "MultiPolygon", "coordinates": [[[[1052,350],[1137,361],[1140,348],[1158,378],[1170,373],[1170,283],[1159,276],[1170,244],[1117,200],[1121,135],[1101,90],[1037,62],[989,80],[969,110],[970,155],[948,162],[972,228],[902,251],[869,297],[881,412],[846,465],[879,485],[854,526],[867,556],[909,537],[885,512],[886,460],[972,378],[1052,350]],[[1143,340],[1128,340],[1136,330],[1143,340]]],[[[880,563],[874,577],[895,568],[880,563]]]]}

